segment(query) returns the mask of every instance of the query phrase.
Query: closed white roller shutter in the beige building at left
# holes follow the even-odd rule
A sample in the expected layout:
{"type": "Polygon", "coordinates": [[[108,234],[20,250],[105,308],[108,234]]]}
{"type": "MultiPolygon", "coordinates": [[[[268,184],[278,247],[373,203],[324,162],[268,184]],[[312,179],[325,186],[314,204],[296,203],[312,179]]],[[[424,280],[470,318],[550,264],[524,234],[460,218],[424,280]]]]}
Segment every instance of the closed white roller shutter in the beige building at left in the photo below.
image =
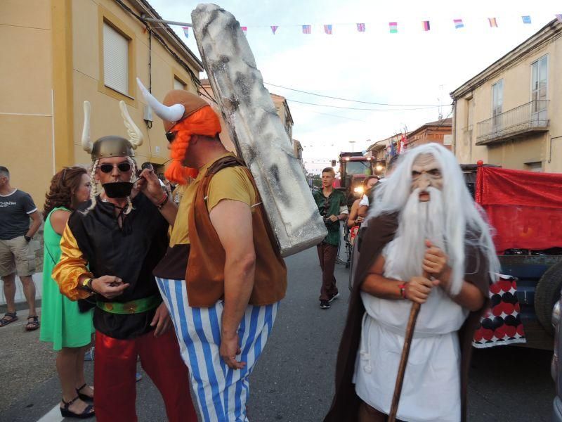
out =
{"type": "Polygon", "coordinates": [[[107,23],[103,24],[103,83],[129,94],[129,41],[107,23]]]}

